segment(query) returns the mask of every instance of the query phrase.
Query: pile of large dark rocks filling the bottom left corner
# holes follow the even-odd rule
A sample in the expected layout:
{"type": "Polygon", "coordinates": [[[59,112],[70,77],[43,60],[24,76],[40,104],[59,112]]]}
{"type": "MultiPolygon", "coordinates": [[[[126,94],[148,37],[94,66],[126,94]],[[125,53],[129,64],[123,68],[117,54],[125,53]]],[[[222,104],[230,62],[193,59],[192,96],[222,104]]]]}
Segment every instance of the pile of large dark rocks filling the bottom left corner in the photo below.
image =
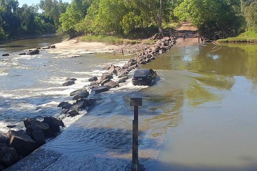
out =
{"type": "Polygon", "coordinates": [[[21,158],[46,143],[46,138],[55,137],[64,127],[61,120],[54,117],[44,117],[43,121],[25,118],[26,131],[9,130],[7,134],[0,133],[0,170],[4,170],[21,158]]]}

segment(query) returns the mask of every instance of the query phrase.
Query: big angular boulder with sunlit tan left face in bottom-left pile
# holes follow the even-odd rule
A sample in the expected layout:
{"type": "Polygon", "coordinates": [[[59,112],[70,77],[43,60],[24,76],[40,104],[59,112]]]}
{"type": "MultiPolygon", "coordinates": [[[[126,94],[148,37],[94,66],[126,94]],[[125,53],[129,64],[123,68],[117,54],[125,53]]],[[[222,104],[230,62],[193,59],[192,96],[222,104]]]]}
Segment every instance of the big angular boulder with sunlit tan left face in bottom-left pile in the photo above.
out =
{"type": "Polygon", "coordinates": [[[7,135],[9,137],[9,146],[14,147],[23,157],[29,155],[38,147],[36,142],[23,130],[9,130],[7,135]]]}

